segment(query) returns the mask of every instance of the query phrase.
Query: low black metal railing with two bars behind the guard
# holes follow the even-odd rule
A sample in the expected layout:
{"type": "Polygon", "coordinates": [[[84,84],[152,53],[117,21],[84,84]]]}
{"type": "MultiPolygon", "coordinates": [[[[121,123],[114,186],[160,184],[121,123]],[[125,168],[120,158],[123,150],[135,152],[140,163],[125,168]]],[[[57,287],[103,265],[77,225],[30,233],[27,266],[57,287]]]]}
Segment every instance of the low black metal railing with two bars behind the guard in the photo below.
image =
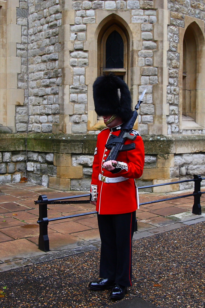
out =
{"type": "MultiPolygon", "coordinates": [[[[149,201],[149,202],[143,202],[139,205],[146,205],[151,203],[158,203],[158,202],[164,202],[168,200],[174,200],[179,198],[186,198],[194,196],[194,205],[192,207],[192,213],[195,215],[201,215],[201,204],[200,204],[200,197],[203,193],[201,192],[201,181],[205,180],[205,178],[202,178],[200,175],[194,175],[194,178],[191,180],[182,180],[177,182],[171,182],[171,183],[162,183],[162,184],[155,184],[155,185],[148,185],[148,186],[140,186],[138,189],[145,189],[145,188],[151,188],[151,187],[157,187],[157,186],[165,186],[165,185],[171,185],[171,184],[179,184],[179,183],[186,183],[186,182],[192,182],[194,181],[194,192],[192,194],[187,194],[183,196],[178,197],[171,197],[166,199],[160,199],[155,201],[149,201]]],[[[54,198],[54,199],[48,199],[46,195],[40,195],[38,197],[38,200],[35,200],[34,203],[39,205],[39,218],[37,223],[39,224],[39,238],[38,238],[38,248],[42,251],[49,251],[49,238],[48,238],[48,224],[49,221],[57,221],[67,218],[73,218],[73,217],[80,217],[80,216],[86,216],[91,214],[96,214],[97,212],[87,212],[87,213],[81,213],[81,214],[74,214],[69,216],[63,216],[63,217],[56,217],[56,218],[48,218],[47,214],[47,205],[48,204],[80,204],[80,203],[90,203],[89,199],[86,200],[71,200],[71,199],[79,199],[82,197],[89,197],[90,194],[84,194],[84,195],[78,195],[78,196],[70,196],[70,197],[62,197],[62,198],[54,198]]],[[[136,225],[137,226],[137,225],[136,225]]],[[[135,228],[135,231],[137,229],[135,228]]]]}

